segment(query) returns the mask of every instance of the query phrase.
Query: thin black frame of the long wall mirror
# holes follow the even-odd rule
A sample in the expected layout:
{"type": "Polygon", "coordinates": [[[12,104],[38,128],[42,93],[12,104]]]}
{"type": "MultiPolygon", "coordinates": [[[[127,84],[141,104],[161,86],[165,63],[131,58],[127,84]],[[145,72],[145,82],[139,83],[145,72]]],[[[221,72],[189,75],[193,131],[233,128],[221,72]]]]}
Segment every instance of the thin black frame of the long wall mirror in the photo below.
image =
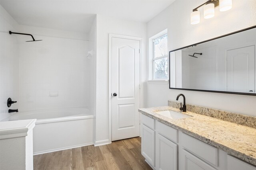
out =
{"type": "Polygon", "coordinates": [[[175,50],[172,50],[172,51],[169,51],[169,89],[176,89],[176,90],[190,90],[190,91],[199,91],[199,92],[213,92],[213,93],[226,93],[226,94],[242,94],[242,95],[249,95],[249,96],[256,96],[256,94],[254,93],[240,93],[240,92],[225,92],[225,91],[214,91],[214,90],[197,90],[197,89],[187,89],[187,88],[171,88],[171,84],[170,84],[170,54],[174,51],[177,51],[177,50],[181,50],[181,49],[184,49],[184,48],[187,48],[187,47],[191,47],[193,45],[198,45],[198,44],[201,44],[201,43],[205,43],[205,42],[208,42],[208,41],[212,41],[214,39],[218,39],[218,38],[222,38],[222,37],[226,37],[228,35],[232,35],[232,34],[235,34],[235,33],[240,33],[242,31],[246,31],[246,30],[249,30],[249,29],[253,29],[253,28],[256,28],[256,25],[252,26],[252,27],[248,27],[248,28],[245,28],[245,29],[241,29],[239,31],[235,31],[235,32],[232,32],[232,33],[228,33],[226,35],[222,35],[222,36],[219,36],[219,37],[215,37],[215,38],[212,38],[212,39],[208,39],[206,41],[202,41],[200,43],[195,43],[195,44],[192,44],[192,45],[188,45],[186,47],[182,47],[182,48],[179,48],[179,49],[175,49],[175,50]]]}

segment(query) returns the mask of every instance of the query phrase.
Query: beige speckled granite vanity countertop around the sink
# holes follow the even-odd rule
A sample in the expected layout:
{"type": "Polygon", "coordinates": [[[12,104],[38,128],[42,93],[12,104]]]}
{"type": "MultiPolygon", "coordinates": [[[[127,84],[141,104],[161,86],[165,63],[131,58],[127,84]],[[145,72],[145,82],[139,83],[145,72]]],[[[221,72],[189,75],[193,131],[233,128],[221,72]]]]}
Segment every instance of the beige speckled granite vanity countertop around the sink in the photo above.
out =
{"type": "Polygon", "coordinates": [[[256,129],[191,111],[182,113],[192,117],[176,120],[154,113],[164,110],[180,112],[170,106],[144,108],[139,112],[256,166],[256,129]]]}

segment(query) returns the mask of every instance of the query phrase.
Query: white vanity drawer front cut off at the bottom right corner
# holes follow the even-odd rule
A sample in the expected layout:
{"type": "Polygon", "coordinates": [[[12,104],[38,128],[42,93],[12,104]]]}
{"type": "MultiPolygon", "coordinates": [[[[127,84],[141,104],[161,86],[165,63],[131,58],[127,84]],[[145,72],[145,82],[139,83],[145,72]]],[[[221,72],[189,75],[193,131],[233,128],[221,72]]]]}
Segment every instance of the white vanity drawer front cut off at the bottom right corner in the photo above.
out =
{"type": "Polygon", "coordinates": [[[228,170],[256,170],[256,166],[253,166],[243,160],[228,155],[228,170]]]}

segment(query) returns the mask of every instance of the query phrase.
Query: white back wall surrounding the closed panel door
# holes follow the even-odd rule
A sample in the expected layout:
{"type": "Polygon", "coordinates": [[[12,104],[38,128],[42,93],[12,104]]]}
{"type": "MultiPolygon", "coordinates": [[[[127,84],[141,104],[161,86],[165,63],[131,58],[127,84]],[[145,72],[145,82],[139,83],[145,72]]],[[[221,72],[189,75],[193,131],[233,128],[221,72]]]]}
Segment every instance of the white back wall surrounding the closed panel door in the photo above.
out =
{"type": "MultiPolygon", "coordinates": [[[[108,143],[108,41],[109,33],[142,37],[142,67],[146,67],[146,23],[118,20],[97,15],[96,59],[96,144],[108,143]]],[[[145,70],[146,71],[146,70],[145,70]]],[[[142,80],[145,80],[145,72],[142,80]]],[[[141,89],[143,91],[143,89],[141,89]]],[[[141,98],[143,96],[141,95],[141,98]]],[[[143,106],[143,104],[141,104],[143,106]]]]}

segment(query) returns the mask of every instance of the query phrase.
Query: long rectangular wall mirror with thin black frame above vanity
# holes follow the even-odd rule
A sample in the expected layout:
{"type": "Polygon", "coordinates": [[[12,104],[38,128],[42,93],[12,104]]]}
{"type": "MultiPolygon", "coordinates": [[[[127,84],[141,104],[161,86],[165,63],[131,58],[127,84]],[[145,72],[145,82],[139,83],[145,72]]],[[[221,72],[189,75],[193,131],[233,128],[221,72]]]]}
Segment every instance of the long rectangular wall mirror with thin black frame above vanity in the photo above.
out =
{"type": "Polygon", "coordinates": [[[169,52],[170,89],[256,95],[256,26],[169,52]]]}

